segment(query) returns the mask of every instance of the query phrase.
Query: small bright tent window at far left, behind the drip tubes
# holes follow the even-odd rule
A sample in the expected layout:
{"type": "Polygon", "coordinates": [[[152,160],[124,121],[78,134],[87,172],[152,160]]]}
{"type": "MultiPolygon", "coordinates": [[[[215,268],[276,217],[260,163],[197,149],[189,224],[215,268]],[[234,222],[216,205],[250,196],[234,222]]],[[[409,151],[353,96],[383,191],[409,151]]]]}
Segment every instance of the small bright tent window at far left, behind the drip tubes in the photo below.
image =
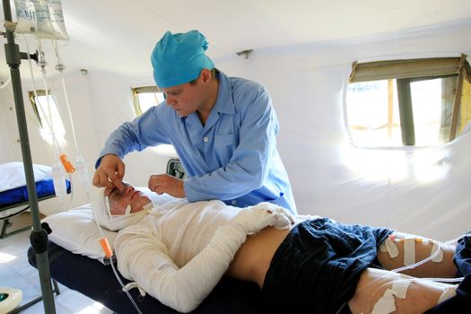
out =
{"type": "Polygon", "coordinates": [[[53,143],[52,131],[56,135],[57,142],[59,144],[65,143],[65,128],[62,119],[60,118],[59,111],[57,109],[56,100],[50,94],[44,90],[34,92],[28,92],[32,109],[38,118],[39,129],[41,136],[48,141],[49,144],[53,143]]]}

